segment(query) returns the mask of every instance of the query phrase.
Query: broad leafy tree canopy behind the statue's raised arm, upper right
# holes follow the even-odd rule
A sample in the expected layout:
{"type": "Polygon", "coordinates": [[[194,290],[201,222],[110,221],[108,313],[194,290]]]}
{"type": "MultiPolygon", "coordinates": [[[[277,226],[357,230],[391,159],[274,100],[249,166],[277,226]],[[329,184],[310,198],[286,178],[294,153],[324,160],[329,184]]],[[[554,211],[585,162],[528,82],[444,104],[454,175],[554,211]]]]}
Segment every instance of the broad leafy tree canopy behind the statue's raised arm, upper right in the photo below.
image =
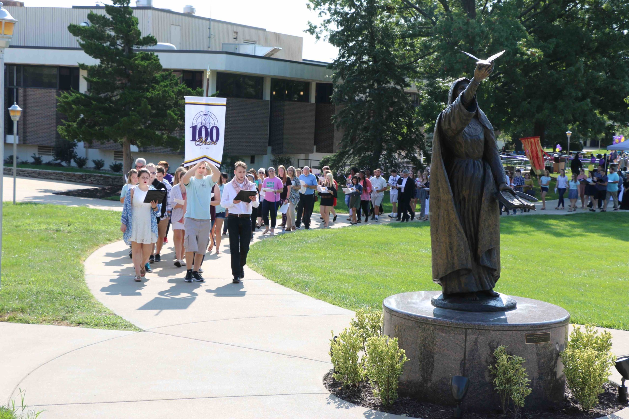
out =
{"type": "MultiPolygon", "coordinates": [[[[501,50],[479,89],[494,127],[546,143],[599,138],[610,121],[629,122],[629,3],[623,0],[401,0],[420,54],[422,120],[434,123],[447,82],[474,70],[460,50],[501,50]]],[[[430,127],[427,128],[427,130],[430,127]]],[[[613,131],[613,130],[612,130],[613,131]]]]}

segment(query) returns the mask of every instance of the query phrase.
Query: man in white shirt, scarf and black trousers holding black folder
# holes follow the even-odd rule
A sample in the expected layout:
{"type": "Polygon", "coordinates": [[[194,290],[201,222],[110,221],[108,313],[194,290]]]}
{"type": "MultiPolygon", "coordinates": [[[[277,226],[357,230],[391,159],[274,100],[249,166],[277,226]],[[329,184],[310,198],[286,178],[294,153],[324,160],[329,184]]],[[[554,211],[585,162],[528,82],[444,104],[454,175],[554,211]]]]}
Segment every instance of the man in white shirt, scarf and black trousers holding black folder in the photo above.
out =
{"type": "Polygon", "coordinates": [[[249,197],[249,201],[237,200],[236,195],[241,190],[255,191],[255,183],[249,182],[247,164],[237,161],[234,165],[234,177],[225,184],[221,195],[221,207],[229,210],[227,216],[227,231],[230,235],[231,275],[233,283],[238,284],[245,276],[245,264],[251,241],[251,212],[260,202],[256,195],[249,197]]]}

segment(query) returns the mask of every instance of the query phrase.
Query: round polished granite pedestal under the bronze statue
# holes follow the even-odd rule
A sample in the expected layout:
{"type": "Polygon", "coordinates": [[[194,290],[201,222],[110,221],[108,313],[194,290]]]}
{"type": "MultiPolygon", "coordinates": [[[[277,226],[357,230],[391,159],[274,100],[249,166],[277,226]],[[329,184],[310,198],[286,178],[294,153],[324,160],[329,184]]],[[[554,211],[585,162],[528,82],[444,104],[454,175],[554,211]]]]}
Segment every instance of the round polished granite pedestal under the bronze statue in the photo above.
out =
{"type": "Polygon", "coordinates": [[[569,313],[530,298],[512,297],[515,310],[473,313],[437,308],[431,298],[440,291],[392,295],[384,300],[384,334],[397,337],[409,361],[400,378],[400,393],[421,401],[453,406],[452,376],[466,376],[470,388],[464,410],[499,408],[487,368],[496,347],[526,359],[531,380],[527,409],[547,408],[564,397],[565,376],[559,352],[567,342],[569,313]]]}

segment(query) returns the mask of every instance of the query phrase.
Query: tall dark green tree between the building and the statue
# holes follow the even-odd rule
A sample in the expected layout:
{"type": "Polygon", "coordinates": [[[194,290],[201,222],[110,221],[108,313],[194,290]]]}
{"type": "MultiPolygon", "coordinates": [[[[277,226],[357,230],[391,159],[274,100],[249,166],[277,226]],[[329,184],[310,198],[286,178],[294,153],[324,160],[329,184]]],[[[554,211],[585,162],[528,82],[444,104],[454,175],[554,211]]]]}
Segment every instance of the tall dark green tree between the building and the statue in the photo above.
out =
{"type": "Polygon", "coordinates": [[[321,24],[309,32],[338,47],[328,66],[332,102],[342,104],[333,121],[344,129],[339,151],[326,163],[377,167],[420,166],[423,134],[416,107],[404,92],[416,74],[416,41],[409,38],[391,0],[309,0],[321,24]]]}

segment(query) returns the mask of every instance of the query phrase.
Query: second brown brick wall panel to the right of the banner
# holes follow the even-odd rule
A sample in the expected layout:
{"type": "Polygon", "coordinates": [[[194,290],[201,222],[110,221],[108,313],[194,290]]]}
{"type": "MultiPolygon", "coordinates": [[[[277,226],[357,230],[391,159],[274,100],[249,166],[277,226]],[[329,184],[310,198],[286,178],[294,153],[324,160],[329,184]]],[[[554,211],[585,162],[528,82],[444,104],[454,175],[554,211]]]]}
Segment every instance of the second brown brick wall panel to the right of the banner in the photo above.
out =
{"type": "Polygon", "coordinates": [[[269,139],[273,154],[312,153],[316,104],[273,101],[269,139]]]}

